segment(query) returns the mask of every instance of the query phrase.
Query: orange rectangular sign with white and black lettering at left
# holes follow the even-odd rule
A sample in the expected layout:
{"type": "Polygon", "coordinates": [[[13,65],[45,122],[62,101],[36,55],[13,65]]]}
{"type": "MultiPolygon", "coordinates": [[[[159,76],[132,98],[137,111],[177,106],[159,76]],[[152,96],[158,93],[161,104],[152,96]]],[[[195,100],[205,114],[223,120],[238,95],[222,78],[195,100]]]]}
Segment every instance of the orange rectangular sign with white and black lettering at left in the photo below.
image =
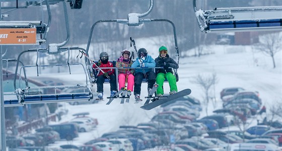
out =
{"type": "Polygon", "coordinates": [[[36,44],[36,28],[0,29],[0,45],[36,44]]]}

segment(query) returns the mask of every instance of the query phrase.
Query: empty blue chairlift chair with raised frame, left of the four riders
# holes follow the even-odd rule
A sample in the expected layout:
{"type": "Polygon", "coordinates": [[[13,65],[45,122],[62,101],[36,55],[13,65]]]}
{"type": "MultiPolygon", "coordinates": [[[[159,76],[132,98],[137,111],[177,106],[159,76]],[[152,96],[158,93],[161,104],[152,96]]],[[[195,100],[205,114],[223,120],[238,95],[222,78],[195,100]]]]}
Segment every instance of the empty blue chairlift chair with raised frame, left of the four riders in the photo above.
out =
{"type": "MultiPolygon", "coordinates": [[[[60,52],[64,52],[64,51],[70,51],[70,50],[83,50],[83,48],[58,48],[58,53],[60,52]]],[[[15,75],[18,74],[18,70],[20,71],[24,71],[26,68],[38,68],[40,67],[48,67],[48,66],[72,66],[72,65],[78,65],[81,66],[85,72],[85,82],[86,85],[79,85],[79,84],[74,84],[74,85],[55,85],[55,86],[36,86],[36,87],[32,87],[28,85],[28,80],[25,75],[25,79],[24,81],[26,81],[26,86],[25,88],[19,88],[16,86],[16,80],[17,80],[17,76],[14,77],[14,88],[15,88],[15,93],[14,93],[14,99],[7,99],[5,101],[5,106],[18,106],[21,104],[36,104],[36,103],[51,103],[51,102],[59,102],[59,101],[77,101],[77,100],[90,100],[93,98],[93,94],[92,94],[92,88],[91,86],[88,84],[88,79],[87,79],[87,71],[84,67],[83,64],[81,63],[73,63],[70,64],[67,63],[66,64],[56,64],[56,65],[38,65],[36,62],[36,65],[32,65],[32,66],[22,66],[19,69],[19,63],[20,63],[20,57],[22,56],[22,54],[24,53],[28,53],[28,52],[37,52],[37,60],[38,60],[38,54],[39,52],[41,53],[48,53],[48,49],[33,49],[33,50],[27,50],[27,51],[23,51],[17,60],[17,66],[16,66],[16,71],[15,71],[15,75]],[[58,88],[86,88],[89,91],[87,92],[78,92],[78,93],[58,93],[57,89],[58,88]],[[15,94],[16,94],[16,99],[15,99],[15,94]]],[[[68,53],[68,57],[69,57],[69,53],[68,53]]],[[[38,72],[37,72],[38,73],[38,72]]],[[[69,73],[70,73],[70,68],[69,68],[69,73]]],[[[71,74],[71,73],[70,73],[71,74]]],[[[11,94],[10,94],[11,95],[11,94]]],[[[8,96],[8,94],[7,94],[8,96]]]]}

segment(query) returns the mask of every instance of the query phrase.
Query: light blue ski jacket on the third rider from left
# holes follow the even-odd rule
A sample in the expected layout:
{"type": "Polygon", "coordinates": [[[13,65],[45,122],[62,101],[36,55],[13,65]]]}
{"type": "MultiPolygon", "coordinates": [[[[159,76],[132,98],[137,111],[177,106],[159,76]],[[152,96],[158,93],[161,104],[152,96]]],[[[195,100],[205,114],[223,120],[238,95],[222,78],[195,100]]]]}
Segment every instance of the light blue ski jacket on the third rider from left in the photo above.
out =
{"type": "MultiPolygon", "coordinates": [[[[136,60],[131,65],[131,68],[140,67],[138,59],[139,58],[137,57],[136,60]]],[[[135,73],[138,73],[138,72],[142,72],[142,73],[145,72],[145,73],[147,73],[149,71],[152,71],[153,67],[156,67],[156,62],[155,62],[155,60],[150,55],[146,56],[146,58],[143,61],[143,63],[145,64],[145,67],[135,69],[135,73]],[[146,67],[150,67],[150,68],[146,68],[146,67]],[[144,71],[143,71],[143,69],[144,69],[144,71]]]]}

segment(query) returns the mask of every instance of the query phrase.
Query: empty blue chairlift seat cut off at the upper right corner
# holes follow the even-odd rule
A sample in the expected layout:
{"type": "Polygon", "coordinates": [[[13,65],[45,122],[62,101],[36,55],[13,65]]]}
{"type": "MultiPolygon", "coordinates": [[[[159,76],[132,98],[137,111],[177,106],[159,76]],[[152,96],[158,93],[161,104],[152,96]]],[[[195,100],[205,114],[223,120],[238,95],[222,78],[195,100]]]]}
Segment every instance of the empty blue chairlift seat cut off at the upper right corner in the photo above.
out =
{"type": "Polygon", "coordinates": [[[277,31],[282,29],[282,6],[193,9],[201,32],[277,31]]]}

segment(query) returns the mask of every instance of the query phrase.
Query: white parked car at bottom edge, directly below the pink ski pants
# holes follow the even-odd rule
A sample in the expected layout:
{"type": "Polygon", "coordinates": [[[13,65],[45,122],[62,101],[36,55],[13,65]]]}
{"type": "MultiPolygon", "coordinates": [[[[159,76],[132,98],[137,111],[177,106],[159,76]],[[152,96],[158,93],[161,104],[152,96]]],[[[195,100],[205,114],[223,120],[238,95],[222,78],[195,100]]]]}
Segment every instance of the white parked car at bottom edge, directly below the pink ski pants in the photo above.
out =
{"type": "Polygon", "coordinates": [[[107,140],[107,142],[111,142],[114,146],[118,148],[118,151],[133,151],[132,142],[126,138],[113,138],[107,140]]]}

